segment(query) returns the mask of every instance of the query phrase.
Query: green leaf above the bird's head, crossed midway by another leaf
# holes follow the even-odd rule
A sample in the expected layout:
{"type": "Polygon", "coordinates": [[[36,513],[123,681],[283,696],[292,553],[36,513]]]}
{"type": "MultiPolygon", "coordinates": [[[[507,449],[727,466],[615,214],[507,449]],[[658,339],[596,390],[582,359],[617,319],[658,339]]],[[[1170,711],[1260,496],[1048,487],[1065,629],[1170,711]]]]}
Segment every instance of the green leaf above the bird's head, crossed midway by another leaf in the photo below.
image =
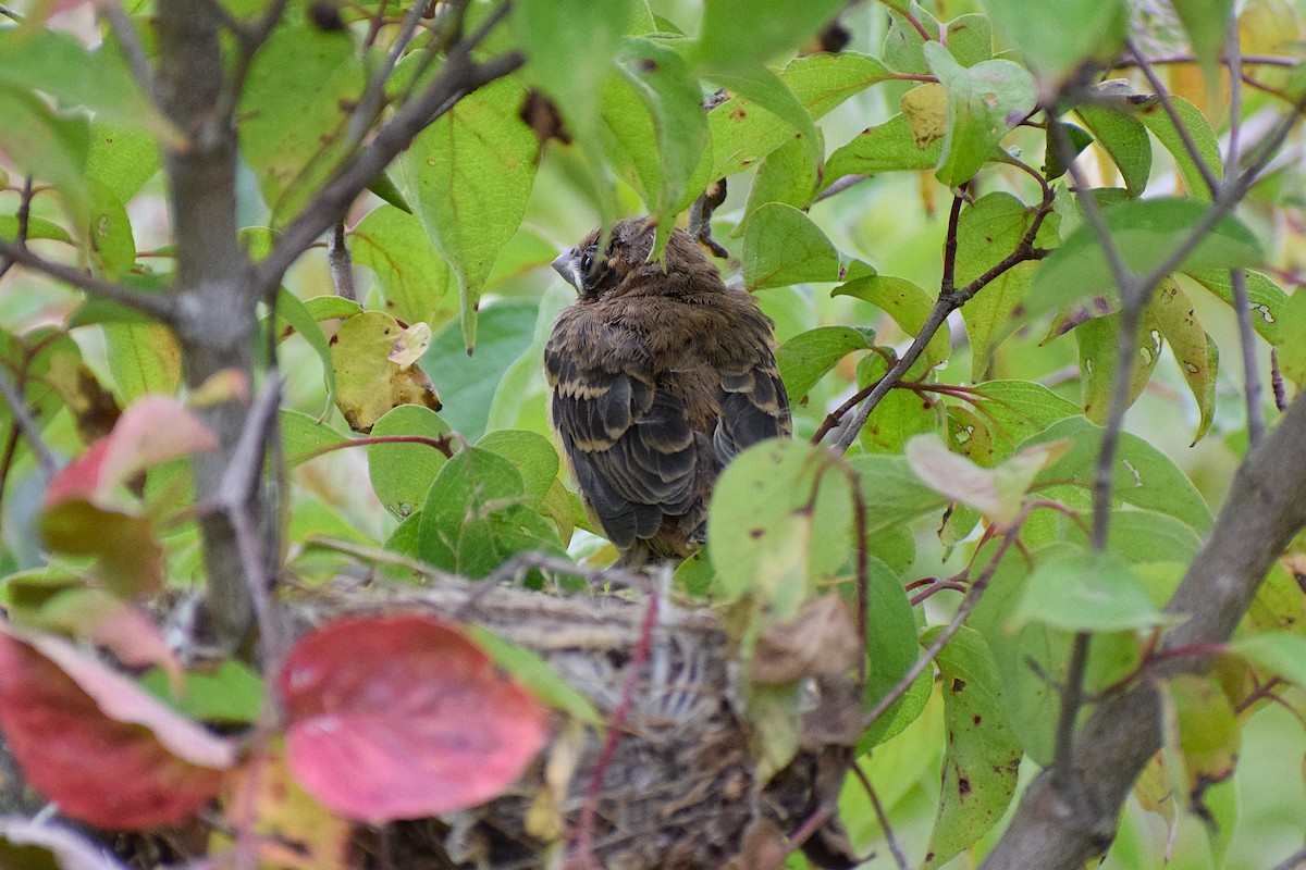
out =
{"type": "MultiPolygon", "coordinates": [[[[892,77],[875,57],[849,51],[799,57],[780,73],[814,120],[892,77]]],[[[733,97],[708,112],[708,125],[712,130],[708,179],[742,172],[793,136],[791,125],[743,97],[733,97]]]]}

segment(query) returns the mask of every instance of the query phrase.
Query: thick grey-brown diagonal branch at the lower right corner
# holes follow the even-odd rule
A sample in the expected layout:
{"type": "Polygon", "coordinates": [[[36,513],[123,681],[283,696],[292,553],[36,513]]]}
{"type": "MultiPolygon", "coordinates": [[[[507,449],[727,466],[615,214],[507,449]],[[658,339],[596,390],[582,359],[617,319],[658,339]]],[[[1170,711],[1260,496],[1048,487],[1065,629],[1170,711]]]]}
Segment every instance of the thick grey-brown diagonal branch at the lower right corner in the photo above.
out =
{"type": "MultiPolygon", "coordinates": [[[[1238,470],[1211,537],[1166,607],[1188,620],[1162,650],[1226,640],[1262,578],[1303,526],[1306,400],[1298,399],[1238,470]]],[[[1205,657],[1170,659],[1162,676],[1200,673],[1208,665],[1205,657]]],[[[1075,741],[1075,792],[1058,790],[1043,772],[983,866],[1084,866],[1110,844],[1121,805],[1160,746],[1161,708],[1152,682],[1104,702],[1075,741]]]]}

